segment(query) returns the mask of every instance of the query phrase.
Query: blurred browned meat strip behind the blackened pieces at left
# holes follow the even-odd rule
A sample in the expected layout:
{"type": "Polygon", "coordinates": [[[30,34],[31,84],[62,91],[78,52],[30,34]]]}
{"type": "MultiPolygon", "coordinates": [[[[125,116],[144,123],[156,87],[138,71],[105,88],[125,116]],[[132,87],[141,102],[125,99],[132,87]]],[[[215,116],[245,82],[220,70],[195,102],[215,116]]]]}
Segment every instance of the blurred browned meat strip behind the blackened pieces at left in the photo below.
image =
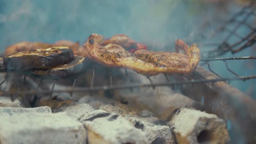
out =
{"type": "Polygon", "coordinates": [[[46,43],[39,43],[39,42],[33,43],[29,41],[22,41],[20,43],[8,46],[5,49],[4,56],[9,56],[14,53],[22,52],[22,51],[47,49],[48,47],[54,47],[54,46],[67,46],[73,51],[74,55],[86,57],[86,53],[84,52],[83,47],[80,47],[78,42],[73,43],[72,41],[69,41],[69,40],[56,41],[56,43],[54,44],[46,44],[46,43]]]}

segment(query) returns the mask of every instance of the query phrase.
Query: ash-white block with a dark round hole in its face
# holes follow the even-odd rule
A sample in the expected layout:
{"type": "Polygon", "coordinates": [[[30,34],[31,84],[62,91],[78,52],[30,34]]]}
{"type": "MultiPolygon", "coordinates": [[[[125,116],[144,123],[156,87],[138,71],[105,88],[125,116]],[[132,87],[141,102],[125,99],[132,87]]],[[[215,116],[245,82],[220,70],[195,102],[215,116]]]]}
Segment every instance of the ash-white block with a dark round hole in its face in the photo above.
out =
{"type": "Polygon", "coordinates": [[[229,143],[230,140],[223,119],[206,112],[182,108],[168,125],[178,143],[229,143]]]}

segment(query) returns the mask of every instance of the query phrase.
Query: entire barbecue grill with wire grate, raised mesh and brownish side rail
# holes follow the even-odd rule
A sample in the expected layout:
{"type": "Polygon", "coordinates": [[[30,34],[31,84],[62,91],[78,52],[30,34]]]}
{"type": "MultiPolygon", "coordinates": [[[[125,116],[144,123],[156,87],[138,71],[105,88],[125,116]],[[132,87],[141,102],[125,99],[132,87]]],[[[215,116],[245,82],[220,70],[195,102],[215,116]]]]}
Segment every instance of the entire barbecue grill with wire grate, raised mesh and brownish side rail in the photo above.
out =
{"type": "MultiPolygon", "coordinates": [[[[132,82],[131,75],[128,70],[124,69],[124,73],[121,74],[122,77],[125,77],[125,80],[128,81],[126,84],[117,85],[115,79],[118,79],[115,76],[118,73],[117,69],[108,69],[106,68],[106,74],[108,76],[108,85],[98,85],[96,83],[95,77],[98,76],[96,72],[97,69],[105,69],[100,65],[90,63],[88,59],[88,69],[85,73],[90,75],[89,84],[82,86],[78,84],[79,78],[74,78],[71,80],[71,83],[65,86],[65,89],[57,89],[56,83],[62,80],[46,80],[39,79],[36,82],[36,86],[30,89],[25,89],[27,85],[27,79],[37,79],[37,77],[31,77],[23,74],[17,74],[18,71],[7,71],[3,68],[3,65],[0,65],[0,71],[3,75],[3,79],[0,82],[0,86],[5,85],[9,81],[15,81],[16,91],[11,89],[5,91],[1,89],[1,95],[10,96],[11,98],[16,98],[20,95],[22,99],[27,97],[24,95],[40,95],[40,98],[53,93],[71,93],[71,96],[75,93],[91,93],[92,95],[104,91],[108,93],[113,93],[114,91],[120,91],[122,89],[129,89],[129,91],[134,91],[134,89],[139,88],[157,88],[157,87],[170,87],[174,91],[177,89],[181,91],[187,97],[199,101],[203,104],[203,107],[200,109],[206,111],[207,113],[214,113],[218,117],[224,119],[226,125],[231,127],[229,129],[229,135],[231,143],[236,142],[237,139],[245,139],[248,143],[256,142],[256,101],[241,92],[238,88],[232,87],[229,85],[231,81],[237,81],[240,85],[243,85],[244,81],[256,79],[256,73],[253,75],[240,75],[237,71],[232,70],[229,63],[232,61],[252,61],[255,65],[256,57],[253,56],[243,56],[235,57],[233,54],[238,53],[243,50],[254,49],[254,43],[256,41],[256,27],[252,24],[252,20],[256,20],[255,14],[255,4],[250,3],[243,7],[238,13],[234,14],[229,20],[225,21],[222,26],[220,26],[209,39],[214,39],[220,34],[228,35],[218,44],[199,44],[200,47],[206,46],[210,47],[211,50],[203,51],[200,64],[197,66],[197,69],[189,75],[164,75],[166,81],[154,83],[150,77],[147,77],[149,83],[134,83],[132,82]],[[239,19],[242,17],[242,20],[239,19]],[[239,20],[238,20],[239,19],[239,20]],[[234,27],[230,25],[235,25],[234,27]],[[232,27],[232,28],[230,28],[232,27]],[[242,36],[240,28],[247,27],[249,33],[245,36],[242,36]],[[232,37],[236,37],[240,40],[230,40],[232,37]],[[231,52],[230,57],[223,57],[226,53],[231,52]],[[229,76],[223,76],[218,73],[218,70],[215,70],[212,67],[212,63],[219,62],[218,67],[221,67],[222,70],[228,71],[229,76]],[[14,75],[22,75],[22,77],[13,77],[14,75]],[[46,82],[44,82],[46,81],[46,82]],[[42,89],[45,83],[50,83],[51,88],[48,90],[42,89]]],[[[254,66],[255,69],[255,66],[254,66]]],[[[255,71],[254,71],[255,72],[255,71]]],[[[139,74],[137,74],[139,75],[139,74]]],[[[82,75],[83,76],[83,75],[82,75]]],[[[105,93],[106,94],[106,93],[105,93]]],[[[38,96],[39,97],[39,96],[38,96]]],[[[31,103],[31,101],[30,101],[31,103]]],[[[37,106],[35,104],[30,104],[27,106],[37,106]]]]}

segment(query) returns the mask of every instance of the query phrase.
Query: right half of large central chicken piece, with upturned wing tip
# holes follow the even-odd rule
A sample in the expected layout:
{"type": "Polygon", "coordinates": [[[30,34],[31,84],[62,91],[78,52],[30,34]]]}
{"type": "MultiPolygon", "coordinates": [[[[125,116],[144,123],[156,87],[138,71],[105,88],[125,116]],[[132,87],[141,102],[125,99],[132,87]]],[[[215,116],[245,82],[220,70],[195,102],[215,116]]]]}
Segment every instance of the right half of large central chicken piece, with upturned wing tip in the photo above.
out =
{"type": "Polygon", "coordinates": [[[160,65],[160,67],[174,68],[174,73],[190,73],[193,71],[200,61],[200,50],[196,45],[193,44],[189,47],[182,40],[178,39],[175,49],[176,52],[154,52],[142,49],[135,51],[134,55],[144,62],[154,63],[160,65]],[[185,54],[178,53],[179,48],[185,54]]]}

